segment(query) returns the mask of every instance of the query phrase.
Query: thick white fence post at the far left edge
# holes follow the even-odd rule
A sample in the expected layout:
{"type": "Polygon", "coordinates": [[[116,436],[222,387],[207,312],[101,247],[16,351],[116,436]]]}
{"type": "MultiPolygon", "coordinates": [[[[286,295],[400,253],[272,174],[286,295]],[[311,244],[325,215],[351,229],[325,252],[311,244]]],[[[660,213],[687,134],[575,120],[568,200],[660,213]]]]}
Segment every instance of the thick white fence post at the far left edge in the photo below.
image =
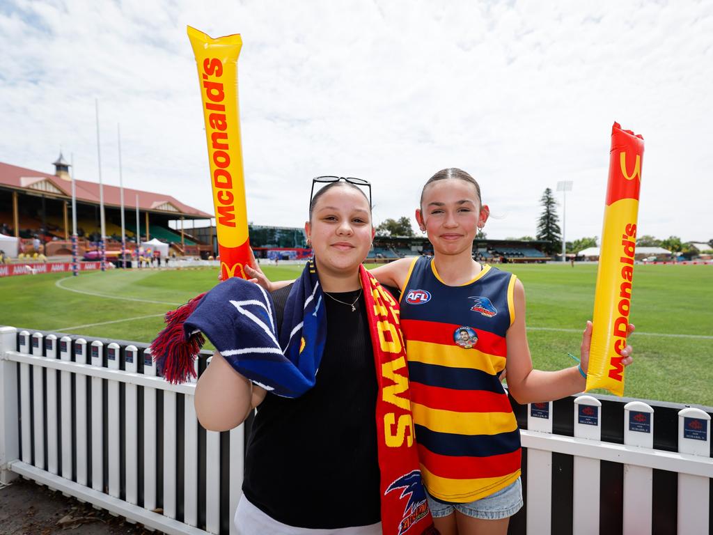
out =
{"type": "Polygon", "coordinates": [[[5,360],[5,352],[17,347],[17,329],[0,327],[0,483],[8,484],[17,477],[7,464],[20,457],[20,437],[17,429],[17,365],[5,360]]]}

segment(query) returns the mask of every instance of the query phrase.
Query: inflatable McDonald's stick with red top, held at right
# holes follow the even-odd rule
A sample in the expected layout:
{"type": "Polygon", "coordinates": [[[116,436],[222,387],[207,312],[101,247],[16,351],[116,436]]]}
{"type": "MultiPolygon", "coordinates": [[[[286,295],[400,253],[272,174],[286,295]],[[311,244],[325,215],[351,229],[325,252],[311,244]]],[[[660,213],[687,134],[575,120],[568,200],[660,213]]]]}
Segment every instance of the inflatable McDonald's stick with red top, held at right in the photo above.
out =
{"type": "Polygon", "coordinates": [[[643,155],[644,138],[614,123],[587,390],[605,388],[618,396],[624,395],[620,351],[631,310],[643,155]]]}

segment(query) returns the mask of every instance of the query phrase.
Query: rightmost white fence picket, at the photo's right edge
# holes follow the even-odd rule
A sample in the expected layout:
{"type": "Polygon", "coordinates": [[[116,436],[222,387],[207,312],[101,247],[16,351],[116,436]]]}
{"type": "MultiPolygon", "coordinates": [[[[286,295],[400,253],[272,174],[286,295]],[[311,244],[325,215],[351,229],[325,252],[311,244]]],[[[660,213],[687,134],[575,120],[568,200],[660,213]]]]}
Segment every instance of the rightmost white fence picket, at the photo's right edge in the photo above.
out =
{"type": "MultiPolygon", "coordinates": [[[[678,452],[709,457],[711,417],[687,407],[678,413],[678,452]]],[[[709,478],[678,474],[678,533],[708,533],[709,478]]]]}

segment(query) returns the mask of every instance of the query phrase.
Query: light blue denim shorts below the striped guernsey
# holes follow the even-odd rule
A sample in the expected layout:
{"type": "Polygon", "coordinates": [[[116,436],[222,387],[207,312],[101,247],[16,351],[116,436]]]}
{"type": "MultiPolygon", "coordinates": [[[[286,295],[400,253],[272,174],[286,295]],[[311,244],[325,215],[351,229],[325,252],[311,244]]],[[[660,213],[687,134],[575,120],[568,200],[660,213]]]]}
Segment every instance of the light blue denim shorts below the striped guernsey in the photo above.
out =
{"type": "Polygon", "coordinates": [[[453,514],[453,511],[458,511],[474,519],[500,520],[513,516],[523,506],[523,484],[518,477],[504,489],[467,504],[454,504],[437,500],[431,494],[427,494],[427,496],[431,516],[436,519],[453,514]]]}

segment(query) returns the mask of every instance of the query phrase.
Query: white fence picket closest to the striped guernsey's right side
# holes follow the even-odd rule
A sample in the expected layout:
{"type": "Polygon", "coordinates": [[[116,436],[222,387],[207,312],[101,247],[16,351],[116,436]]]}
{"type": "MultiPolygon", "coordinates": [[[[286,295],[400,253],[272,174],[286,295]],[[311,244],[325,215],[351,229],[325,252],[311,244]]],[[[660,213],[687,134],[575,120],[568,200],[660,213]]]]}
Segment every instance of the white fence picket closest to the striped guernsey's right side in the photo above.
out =
{"type": "MultiPolygon", "coordinates": [[[[552,402],[528,404],[528,431],[552,434],[552,402]]],[[[527,525],[552,530],[552,452],[528,448],[527,525]]]]}

